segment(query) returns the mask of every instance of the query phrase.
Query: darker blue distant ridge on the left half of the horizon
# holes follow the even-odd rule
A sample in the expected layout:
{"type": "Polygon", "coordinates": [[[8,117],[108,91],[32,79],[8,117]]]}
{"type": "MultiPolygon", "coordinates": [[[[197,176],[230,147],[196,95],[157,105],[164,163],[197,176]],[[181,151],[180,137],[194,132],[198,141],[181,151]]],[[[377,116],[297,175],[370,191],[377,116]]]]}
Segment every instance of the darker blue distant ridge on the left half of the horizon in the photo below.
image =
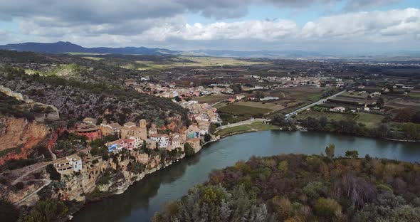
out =
{"type": "Polygon", "coordinates": [[[167,55],[179,54],[180,51],[171,51],[165,48],[124,47],[124,48],[84,48],[70,42],[56,43],[19,43],[0,46],[0,49],[13,51],[31,51],[35,53],[100,53],[100,54],[141,54],[141,55],[167,55]]]}

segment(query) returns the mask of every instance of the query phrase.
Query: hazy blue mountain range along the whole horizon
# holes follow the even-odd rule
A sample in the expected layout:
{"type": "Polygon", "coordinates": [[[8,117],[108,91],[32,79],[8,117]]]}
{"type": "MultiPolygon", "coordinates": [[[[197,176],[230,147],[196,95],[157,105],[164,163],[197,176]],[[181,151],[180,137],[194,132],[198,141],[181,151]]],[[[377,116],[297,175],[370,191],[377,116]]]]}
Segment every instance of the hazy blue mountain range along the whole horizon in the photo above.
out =
{"type": "MultiPolygon", "coordinates": [[[[337,53],[317,53],[311,51],[231,51],[231,50],[196,50],[173,51],[166,48],[146,47],[95,47],[85,48],[74,43],[59,41],[56,43],[17,43],[0,46],[0,49],[12,51],[31,51],[35,53],[97,53],[97,54],[126,54],[126,55],[182,55],[182,56],[216,56],[216,57],[242,57],[242,58],[342,58],[362,57],[367,55],[337,55],[337,53]]],[[[394,56],[420,57],[419,51],[398,51],[394,56]]],[[[375,56],[388,56],[389,53],[375,56]]]]}

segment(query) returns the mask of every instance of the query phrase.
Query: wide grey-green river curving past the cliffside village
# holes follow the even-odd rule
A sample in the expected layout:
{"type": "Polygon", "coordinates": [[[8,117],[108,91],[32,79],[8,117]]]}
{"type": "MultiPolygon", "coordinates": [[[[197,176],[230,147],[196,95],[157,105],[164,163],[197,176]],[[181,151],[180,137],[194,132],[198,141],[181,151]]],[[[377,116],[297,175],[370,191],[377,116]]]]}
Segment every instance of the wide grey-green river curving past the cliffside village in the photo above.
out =
{"type": "Polygon", "coordinates": [[[231,166],[252,156],[275,154],[321,154],[335,144],[335,155],[355,149],[359,157],[420,162],[420,143],[393,142],[323,132],[265,131],[238,134],[208,144],[194,157],[145,176],[124,194],[90,203],[72,221],[149,221],[162,205],[187,194],[194,184],[206,181],[214,169],[231,166]]]}

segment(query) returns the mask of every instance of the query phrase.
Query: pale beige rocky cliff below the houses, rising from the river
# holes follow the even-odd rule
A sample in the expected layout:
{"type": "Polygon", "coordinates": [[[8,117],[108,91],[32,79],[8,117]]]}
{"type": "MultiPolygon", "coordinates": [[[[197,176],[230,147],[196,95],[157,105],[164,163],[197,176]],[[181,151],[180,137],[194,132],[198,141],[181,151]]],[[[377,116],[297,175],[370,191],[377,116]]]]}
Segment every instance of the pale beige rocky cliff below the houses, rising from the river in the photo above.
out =
{"type": "MultiPolygon", "coordinates": [[[[107,160],[101,157],[85,157],[82,171],[62,174],[61,181],[51,182],[48,189],[53,191],[52,198],[63,201],[95,201],[112,194],[122,194],[135,181],[140,181],[147,174],[169,166],[174,160],[183,157],[184,154],[180,154],[164,161],[159,155],[151,156],[136,151],[118,154],[107,160]],[[101,179],[104,176],[107,177],[107,182],[101,179]],[[99,182],[100,180],[102,182],[99,182]]],[[[31,206],[41,198],[40,195],[42,194],[38,192],[31,199],[21,201],[19,205],[31,206]]]]}

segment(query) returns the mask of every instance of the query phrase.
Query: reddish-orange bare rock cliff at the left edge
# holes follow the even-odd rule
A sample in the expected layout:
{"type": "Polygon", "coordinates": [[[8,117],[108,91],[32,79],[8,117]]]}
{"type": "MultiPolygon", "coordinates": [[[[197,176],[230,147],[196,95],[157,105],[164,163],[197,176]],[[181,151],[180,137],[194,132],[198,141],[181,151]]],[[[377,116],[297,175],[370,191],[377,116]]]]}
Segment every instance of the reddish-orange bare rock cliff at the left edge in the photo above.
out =
{"type": "Polygon", "coordinates": [[[26,158],[36,144],[43,142],[50,128],[39,122],[23,118],[0,117],[0,150],[20,147],[19,152],[9,152],[0,157],[0,164],[7,159],[26,158]]]}

